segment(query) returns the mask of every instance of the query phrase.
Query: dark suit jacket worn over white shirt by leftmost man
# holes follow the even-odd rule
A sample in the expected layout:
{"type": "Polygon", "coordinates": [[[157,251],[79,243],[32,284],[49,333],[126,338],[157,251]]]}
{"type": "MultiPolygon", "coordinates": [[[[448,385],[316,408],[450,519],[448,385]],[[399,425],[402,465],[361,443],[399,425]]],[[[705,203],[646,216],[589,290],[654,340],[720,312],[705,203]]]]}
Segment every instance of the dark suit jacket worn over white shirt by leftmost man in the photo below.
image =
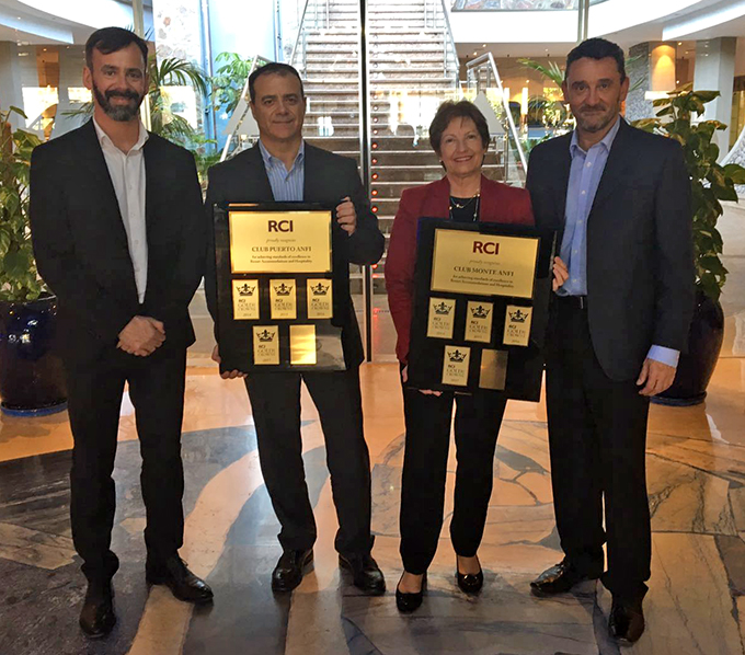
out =
{"type": "Polygon", "coordinates": [[[127,234],[93,122],[36,148],[31,228],[38,272],[58,298],[62,355],[115,348],[137,314],[165,344],[194,343],[188,303],[204,273],[206,225],[194,157],[156,135],[144,147],[148,283],[139,303],[127,234]]]}

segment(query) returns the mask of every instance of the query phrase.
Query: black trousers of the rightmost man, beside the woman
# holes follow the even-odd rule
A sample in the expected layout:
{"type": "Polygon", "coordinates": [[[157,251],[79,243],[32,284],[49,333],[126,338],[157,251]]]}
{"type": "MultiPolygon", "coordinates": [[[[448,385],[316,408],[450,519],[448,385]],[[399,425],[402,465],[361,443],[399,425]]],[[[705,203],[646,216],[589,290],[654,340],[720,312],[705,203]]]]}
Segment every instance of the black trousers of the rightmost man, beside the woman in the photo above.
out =
{"type": "Polygon", "coordinates": [[[619,597],[643,597],[652,556],[644,466],[649,399],[635,380],[605,375],[585,309],[558,299],[550,330],[549,445],[561,547],[570,562],[595,576],[604,571],[607,539],[604,584],[619,597]]]}

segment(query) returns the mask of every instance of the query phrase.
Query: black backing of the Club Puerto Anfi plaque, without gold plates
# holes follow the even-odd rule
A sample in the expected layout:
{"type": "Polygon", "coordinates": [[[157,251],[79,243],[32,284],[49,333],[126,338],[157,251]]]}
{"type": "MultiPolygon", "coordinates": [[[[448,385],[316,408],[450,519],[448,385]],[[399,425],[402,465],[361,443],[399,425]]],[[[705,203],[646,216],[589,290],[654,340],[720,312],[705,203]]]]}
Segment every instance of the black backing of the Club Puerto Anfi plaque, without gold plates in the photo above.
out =
{"type": "Polygon", "coordinates": [[[342,328],[336,323],[336,317],[331,319],[309,319],[307,315],[307,280],[328,279],[332,285],[333,312],[336,311],[336,285],[333,276],[333,243],[330,223],[330,272],[319,273],[232,273],[230,257],[230,222],[231,210],[259,212],[289,212],[289,211],[329,211],[331,221],[334,208],[313,203],[259,203],[231,204],[220,203],[213,208],[215,230],[215,263],[217,278],[217,318],[216,328],[220,344],[220,372],[240,370],[243,372],[270,371],[334,371],[345,370],[344,352],[342,348],[342,328]],[[260,318],[234,319],[232,280],[257,279],[260,294],[260,318]],[[296,319],[272,319],[270,299],[270,279],[296,280],[296,319]],[[253,328],[255,325],[277,325],[279,329],[279,364],[254,364],[253,328]],[[316,328],[317,364],[290,363],[289,330],[290,325],[313,325],[316,328]]]}

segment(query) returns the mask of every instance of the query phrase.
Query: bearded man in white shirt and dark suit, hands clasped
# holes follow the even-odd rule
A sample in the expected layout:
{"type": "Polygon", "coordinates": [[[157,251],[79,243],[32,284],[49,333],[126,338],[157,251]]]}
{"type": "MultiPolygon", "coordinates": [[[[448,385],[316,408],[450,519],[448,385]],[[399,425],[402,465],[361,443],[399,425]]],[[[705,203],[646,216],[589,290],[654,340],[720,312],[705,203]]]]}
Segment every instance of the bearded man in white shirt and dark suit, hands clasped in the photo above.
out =
{"type": "Polygon", "coordinates": [[[186,348],[194,343],[188,303],[206,238],[202,193],[192,154],[139,120],[147,58],[147,44],[131,32],[94,32],[83,71],[93,118],[36,148],[31,168],[34,252],[58,299],[74,440],[72,539],[88,578],[80,625],[91,637],[116,622],[112,472],[125,382],[142,455],[147,579],[181,600],[213,597],[177,554],[186,348]]]}

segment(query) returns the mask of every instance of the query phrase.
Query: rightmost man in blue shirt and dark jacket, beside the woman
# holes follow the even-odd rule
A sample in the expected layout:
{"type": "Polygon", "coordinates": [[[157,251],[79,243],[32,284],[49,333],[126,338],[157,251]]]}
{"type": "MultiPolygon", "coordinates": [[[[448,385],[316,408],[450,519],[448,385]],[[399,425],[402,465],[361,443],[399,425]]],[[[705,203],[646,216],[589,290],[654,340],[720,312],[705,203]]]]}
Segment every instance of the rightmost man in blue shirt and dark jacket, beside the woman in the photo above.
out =
{"type": "Polygon", "coordinates": [[[694,260],[681,149],[623,120],[628,90],[616,44],[593,38],[578,45],[563,83],[576,129],[530,157],[536,221],[557,229],[561,244],[546,368],[565,554],[531,589],[548,596],[601,577],[614,598],[611,635],[634,642],[644,631],[652,551],[649,400],[673,383],[688,342],[694,260]]]}

